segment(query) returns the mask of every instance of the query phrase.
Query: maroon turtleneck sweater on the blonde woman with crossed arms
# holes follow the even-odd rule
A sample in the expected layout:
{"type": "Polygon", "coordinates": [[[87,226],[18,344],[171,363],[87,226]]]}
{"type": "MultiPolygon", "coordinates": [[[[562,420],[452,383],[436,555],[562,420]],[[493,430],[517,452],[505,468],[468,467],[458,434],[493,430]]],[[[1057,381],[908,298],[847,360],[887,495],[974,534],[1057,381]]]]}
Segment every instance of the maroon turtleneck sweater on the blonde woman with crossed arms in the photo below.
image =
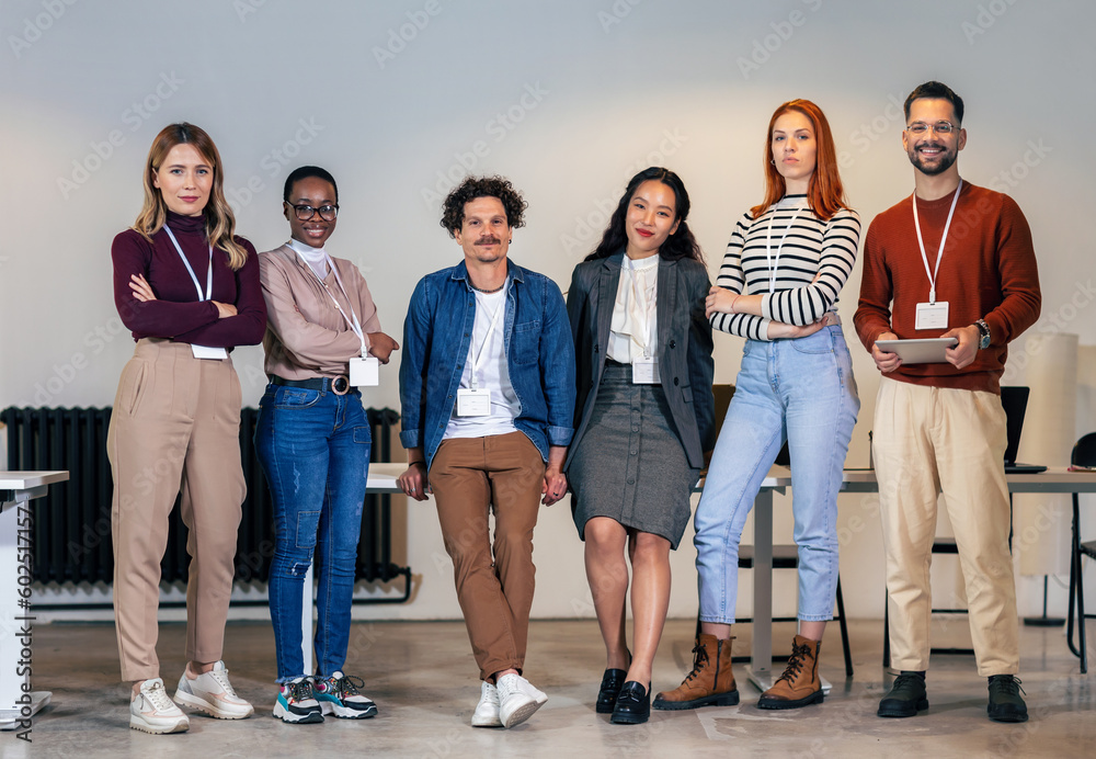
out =
{"type": "MultiPolygon", "coordinates": [[[[168,226],[174,233],[195,276],[206,285],[209,247],[206,242],[205,218],[181,216],[168,212],[168,226]]],[[[133,330],[134,340],[169,338],[212,348],[254,345],[262,342],[266,330],[266,304],[259,284],[259,257],[254,247],[242,237],[236,241],[248,251],[247,263],[239,271],[228,265],[228,256],[213,251],[213,299],[236,306],[237,315],[217,318],[217,306],[198,301],[194,281],[179,258],[168,233],[161,229],[149,243],[133,229],[114,238],[114,305],[122,322],[133,330]],[[141,303],[129,288],[129,277],[144,274],[156,301],[141,303]]]]}

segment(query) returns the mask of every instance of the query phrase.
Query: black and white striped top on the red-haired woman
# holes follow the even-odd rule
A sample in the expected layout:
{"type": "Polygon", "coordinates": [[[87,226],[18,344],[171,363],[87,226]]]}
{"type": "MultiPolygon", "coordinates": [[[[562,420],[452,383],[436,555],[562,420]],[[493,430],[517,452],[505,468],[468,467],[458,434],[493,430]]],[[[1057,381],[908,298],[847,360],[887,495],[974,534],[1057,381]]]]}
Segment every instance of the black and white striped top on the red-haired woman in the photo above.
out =
{"type": "Polygon", "coordinates": [[[711,326],[751,340],[767,340],[769,321],[799,326],[818,321],[826,311],[836,310],[859,239],[860,217],[855,211],[842,208],[822,222],[807,206],[806,195],[785,195],[757,218],[743,214],[716,284],[733,293],[763,294],[764,316],[713,314],[711,326]]]}

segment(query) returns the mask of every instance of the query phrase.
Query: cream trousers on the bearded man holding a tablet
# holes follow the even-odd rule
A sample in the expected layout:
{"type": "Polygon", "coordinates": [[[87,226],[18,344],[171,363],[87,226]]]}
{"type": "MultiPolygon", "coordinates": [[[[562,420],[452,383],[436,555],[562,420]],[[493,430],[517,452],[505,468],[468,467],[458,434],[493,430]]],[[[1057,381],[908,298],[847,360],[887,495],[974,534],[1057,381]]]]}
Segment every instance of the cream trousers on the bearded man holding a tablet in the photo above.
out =
{"type": "Polygon", "coordinates": [[[879,383],[872,455],[897,669],[928,669],[928,569],[943,492],[959,548],[979,675],[1019,670],[1005,444],[1005,412],[993,393],[886,376],[879,383]]]}

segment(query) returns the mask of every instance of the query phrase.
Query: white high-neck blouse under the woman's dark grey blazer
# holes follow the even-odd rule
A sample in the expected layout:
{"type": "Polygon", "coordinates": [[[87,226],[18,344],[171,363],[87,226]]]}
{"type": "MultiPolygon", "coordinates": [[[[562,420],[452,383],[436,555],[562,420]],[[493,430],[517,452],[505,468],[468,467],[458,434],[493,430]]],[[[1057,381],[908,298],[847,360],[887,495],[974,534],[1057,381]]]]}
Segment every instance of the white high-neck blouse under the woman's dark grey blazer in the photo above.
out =
{"type": "Polygon", "coordinates": [[[625,256],[605,355],[621,364],[658,358],[658,253],[638,261],[625,256]]]}

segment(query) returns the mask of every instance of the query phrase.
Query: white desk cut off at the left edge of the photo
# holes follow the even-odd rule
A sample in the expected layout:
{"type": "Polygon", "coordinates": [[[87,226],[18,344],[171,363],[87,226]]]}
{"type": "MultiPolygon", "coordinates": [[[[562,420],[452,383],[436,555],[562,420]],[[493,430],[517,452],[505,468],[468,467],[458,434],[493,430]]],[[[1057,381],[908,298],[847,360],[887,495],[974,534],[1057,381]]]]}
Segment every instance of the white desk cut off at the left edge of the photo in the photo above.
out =
{"type": "Polygon", "coordinates": [[[20,548],[26,557],[33,547],[30,501],[66,479],[68,472],[0,472],[0,729],[30,727],[30,718],[49,703],[48,691],[28,691],[31,665],[24,653],[32,648],[34,613],[27,594],[31,563],[20,560],[20,548]]]}

